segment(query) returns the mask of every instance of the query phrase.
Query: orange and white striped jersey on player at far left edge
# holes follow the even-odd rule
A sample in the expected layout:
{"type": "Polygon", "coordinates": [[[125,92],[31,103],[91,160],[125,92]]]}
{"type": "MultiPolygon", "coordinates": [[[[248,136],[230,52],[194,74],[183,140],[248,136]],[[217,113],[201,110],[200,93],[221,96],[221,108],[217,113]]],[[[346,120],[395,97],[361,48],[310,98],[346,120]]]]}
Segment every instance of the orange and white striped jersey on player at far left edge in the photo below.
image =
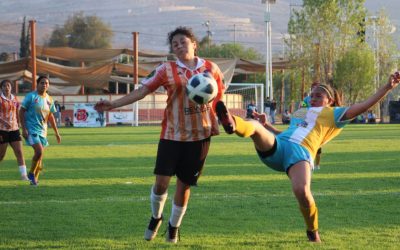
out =
{"type": "Polygon", "coordinates": [[[19,103],[16,96],[11,95],[10,99],[1,94],[0,96],[0,130],[18,130],[18,109],[19,103]]]}

